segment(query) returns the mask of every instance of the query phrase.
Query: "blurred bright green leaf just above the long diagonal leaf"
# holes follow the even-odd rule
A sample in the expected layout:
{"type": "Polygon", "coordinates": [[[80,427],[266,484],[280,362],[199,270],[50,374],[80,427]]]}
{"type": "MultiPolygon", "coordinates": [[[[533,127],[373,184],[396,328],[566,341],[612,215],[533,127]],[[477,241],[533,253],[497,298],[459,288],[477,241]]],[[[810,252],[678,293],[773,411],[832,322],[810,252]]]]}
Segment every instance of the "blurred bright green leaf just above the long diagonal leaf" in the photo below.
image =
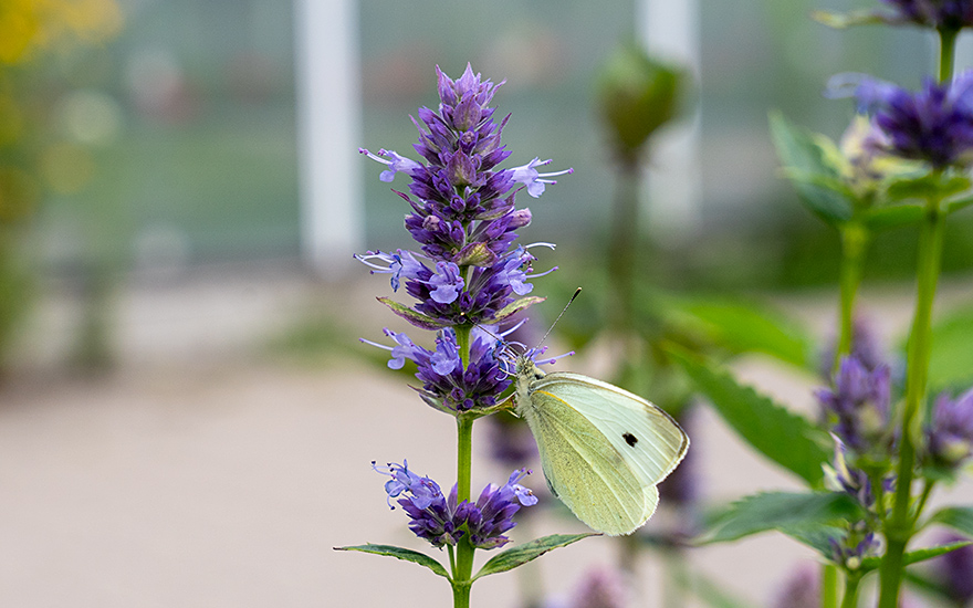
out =
{"type": "Polygon", "coordinates": [[[798,367],[815,365],[814,346],[803,327],[756,302],[667,298],[667,321],[683,332],[732,353],[764,353],[798,367]]]}

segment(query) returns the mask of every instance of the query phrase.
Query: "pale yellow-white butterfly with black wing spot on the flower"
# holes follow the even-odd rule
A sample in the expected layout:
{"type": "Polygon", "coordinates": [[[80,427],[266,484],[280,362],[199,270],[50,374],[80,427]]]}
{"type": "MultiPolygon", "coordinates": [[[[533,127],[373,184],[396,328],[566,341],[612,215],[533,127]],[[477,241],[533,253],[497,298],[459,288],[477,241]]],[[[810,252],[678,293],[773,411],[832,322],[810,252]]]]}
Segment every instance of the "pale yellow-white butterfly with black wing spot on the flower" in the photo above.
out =
{"type": "Polygon", "coordinates": [[[625,535],[645,524],[659,503],[656,485],[689,449],[686,431],[608,382],[545,374],[526,355],[514,373],[515,412],[534,434],[551,492],[597,532],[625,535]]]}

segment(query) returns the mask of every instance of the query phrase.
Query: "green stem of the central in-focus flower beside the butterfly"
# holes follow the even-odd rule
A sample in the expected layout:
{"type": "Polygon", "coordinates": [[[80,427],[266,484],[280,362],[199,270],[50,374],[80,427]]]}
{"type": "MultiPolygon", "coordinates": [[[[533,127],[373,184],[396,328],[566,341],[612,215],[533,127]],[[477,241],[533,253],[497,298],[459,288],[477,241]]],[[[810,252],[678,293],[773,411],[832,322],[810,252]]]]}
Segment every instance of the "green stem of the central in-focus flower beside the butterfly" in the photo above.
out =
{"type": "MultiPolygon", "coordinates": [[[[457,345],[463,369],[470,365],[470,326],[457,326],[457,345]]],[[[457,416],[457,504],[470,500],[473,462],[473,419],[462,413],[457,416]]],[[[473,545],[468,535],[457,543],[456,568],[452,573],[452,598],[454,608],[469,608],[470,580],[473,574],[473,545]]]]}

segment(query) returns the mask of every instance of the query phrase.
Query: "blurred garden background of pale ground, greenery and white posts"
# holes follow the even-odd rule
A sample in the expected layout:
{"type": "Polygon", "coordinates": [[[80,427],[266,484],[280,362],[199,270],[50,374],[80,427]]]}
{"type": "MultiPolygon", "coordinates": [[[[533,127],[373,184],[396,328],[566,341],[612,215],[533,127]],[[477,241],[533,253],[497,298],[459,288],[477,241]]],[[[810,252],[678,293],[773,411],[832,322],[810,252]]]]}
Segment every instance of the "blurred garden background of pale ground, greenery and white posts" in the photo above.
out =
{"type": "MultiPolygon", "coordinates": [[[[854,107],[823,99],[831,74],[918,86],[924,33],[808,18],[875,3],[2,0],[0,604],[384,606],[420,589],[444,605],[446,585],[414,566],[331,548],[410,542],[372,460],[454,474],[451,421],[357,342],[399,326],[374,300],[387,283],[352,253],[409,243],[402,201],[357,148],[411,151],[436,65],[506,80],[493,105],[512,114],[511,166],[575,171],[530,199],[523,235],[558,243],[542,263],[569,293],[603,262],[616,187],[597,77],[638,41],[692,81],[640,192],[653,280],[756,294],[826,337],[837,235],[780,179],[767,114],[837,138],[854,107]]],[[[973,65],[966,38],[959,63],[973,65]]],[[[963,302],[973,221],[950,231],[944,293],[963,302]]],[[[893,230],[866,266],[890,342],[913,259],[914,233],[893,230]]],[[[815,381],[764,364],[740,369],[813,415],[815,381]]],[[[788,486],[702,416],[704,494],[788,486]]],[[[491,467],[474,485],[505,478],[491,467]]],[[[548,577],[552,597],[610,564],[598,543],[552,556],[572,575],[548,577]]],[[[699,560],[752,605],[809,557],[778,537],[744,545],[699,560]]],[[[644,569],[651,589],[661,575],[644,569]]],[[[474,598],[517,606],[508,578],[474,598]]]]}

